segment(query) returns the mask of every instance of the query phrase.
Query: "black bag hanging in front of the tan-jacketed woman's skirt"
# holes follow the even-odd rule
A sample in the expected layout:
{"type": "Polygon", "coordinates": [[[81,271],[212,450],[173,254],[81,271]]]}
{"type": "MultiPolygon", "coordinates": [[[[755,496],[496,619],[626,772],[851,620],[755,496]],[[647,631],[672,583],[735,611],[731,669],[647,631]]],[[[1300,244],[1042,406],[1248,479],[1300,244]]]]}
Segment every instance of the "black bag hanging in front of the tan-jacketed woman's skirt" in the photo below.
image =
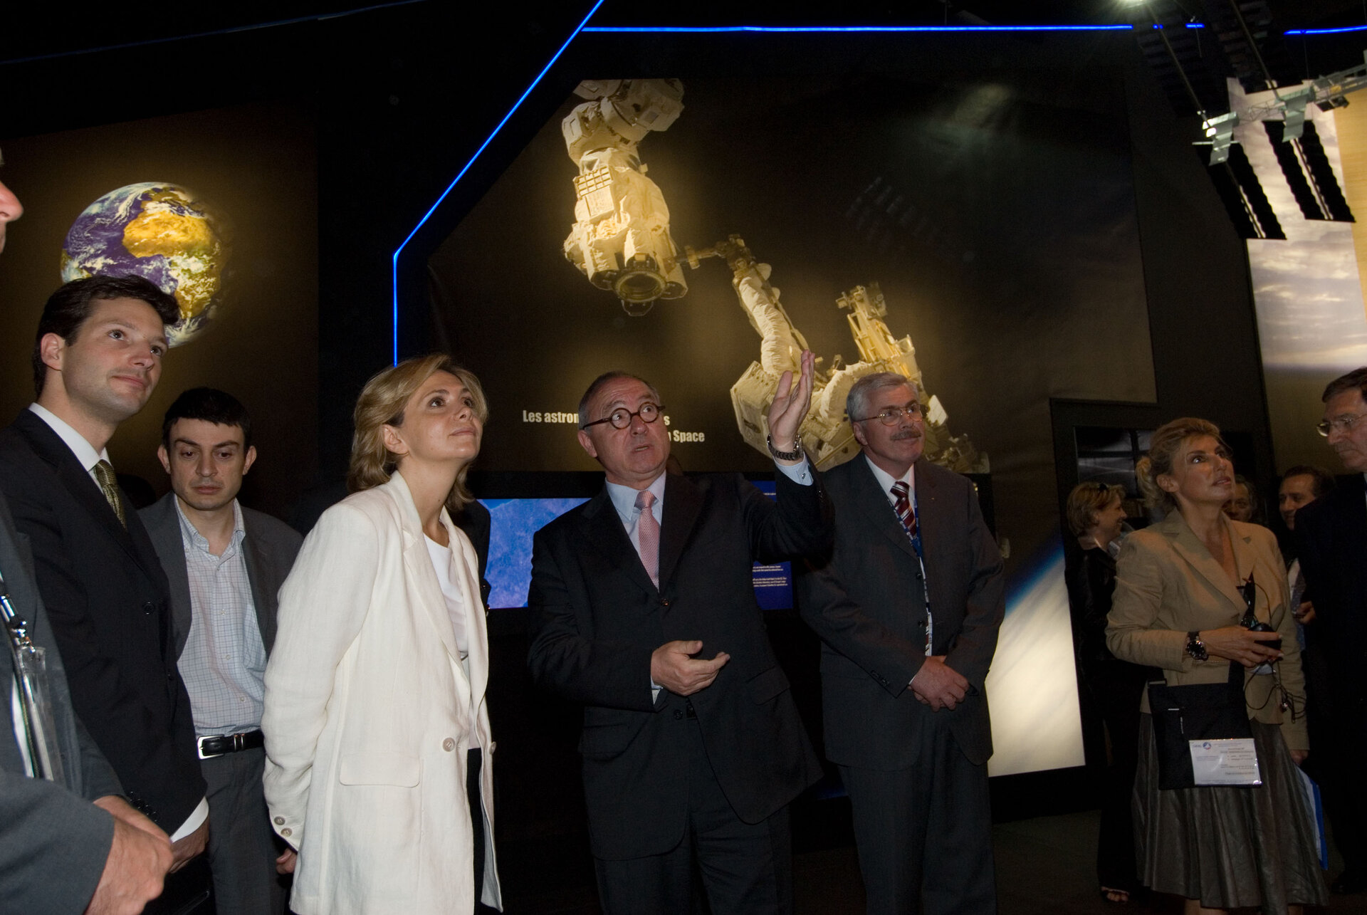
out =
{"type": "Polygon", "coordinates": [[[1154,719],[1154,744],[1158,751],[1158,786],[1195,788],[1191,740],[1249,739],[1244,702],[1244,667],[1229,663],[1226,682],[1196,682],[1169,687],[1162,680],[1148,684],[1148,710],[1154,719]]]}

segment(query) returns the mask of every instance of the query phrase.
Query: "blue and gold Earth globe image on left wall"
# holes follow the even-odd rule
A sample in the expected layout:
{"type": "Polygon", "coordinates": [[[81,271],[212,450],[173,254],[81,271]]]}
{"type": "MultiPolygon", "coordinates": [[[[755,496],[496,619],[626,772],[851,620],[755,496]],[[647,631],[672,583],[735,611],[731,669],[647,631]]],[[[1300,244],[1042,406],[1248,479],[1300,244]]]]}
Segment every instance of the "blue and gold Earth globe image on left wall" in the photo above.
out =
{"type": "Polygon", "coordinates": [[[62,245],[62,279],[144,276],[175,297],[171,346],[190,342],[223,305],[223,222],[193,191],[167,182],[111,190],[86,207],[62,245]]]}

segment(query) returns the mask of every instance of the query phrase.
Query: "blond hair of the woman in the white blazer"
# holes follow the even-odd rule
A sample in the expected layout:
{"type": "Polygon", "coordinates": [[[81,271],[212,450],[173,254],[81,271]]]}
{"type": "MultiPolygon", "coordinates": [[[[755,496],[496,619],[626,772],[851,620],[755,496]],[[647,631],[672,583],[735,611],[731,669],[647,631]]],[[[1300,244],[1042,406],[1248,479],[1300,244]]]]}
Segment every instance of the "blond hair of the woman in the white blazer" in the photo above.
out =
{"type": "MultiPolygon", "coordinates": [[[[489,402],[484,397],[484,388],[480,387],[480,379],[474,377],[469,369],[457,365],[444,353],[414,356],[377,372],[365,383],[361,397],[355,402],[351,464],[346,475],[349,491],[369,490],[387,483],[394,475],[401,455],[384,447],[384,427],[399,428],[403,425],[403,408],[407,406],[409,398],[437,372],[454,375],[474,399],[474,414],[480,417],[480,423],[488,420],[489,402]]],[[[469,466],[466,464],[455,475],[451,492],[446,496],[446,507],[452,514],[474,498],[465,488],[465,475],[469,466]]]]}

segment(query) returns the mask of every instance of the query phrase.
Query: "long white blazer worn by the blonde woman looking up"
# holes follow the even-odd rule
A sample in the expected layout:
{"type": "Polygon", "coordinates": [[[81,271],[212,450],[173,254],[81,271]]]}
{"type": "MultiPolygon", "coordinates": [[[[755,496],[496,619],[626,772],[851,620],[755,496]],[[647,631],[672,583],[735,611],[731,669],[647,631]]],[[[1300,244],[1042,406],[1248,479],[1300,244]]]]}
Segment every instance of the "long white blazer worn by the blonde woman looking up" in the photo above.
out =
{"type": "Polygon", "coordinates": [[[299,915],[469,912],[466,751],[483,751],[484,886],[493,856],[488,629],[470,540],[442,510],[466,607],[469,676],[403,477],[328,509],[280,588],[265,672],[265,799],[299,851],[299,915]]]}

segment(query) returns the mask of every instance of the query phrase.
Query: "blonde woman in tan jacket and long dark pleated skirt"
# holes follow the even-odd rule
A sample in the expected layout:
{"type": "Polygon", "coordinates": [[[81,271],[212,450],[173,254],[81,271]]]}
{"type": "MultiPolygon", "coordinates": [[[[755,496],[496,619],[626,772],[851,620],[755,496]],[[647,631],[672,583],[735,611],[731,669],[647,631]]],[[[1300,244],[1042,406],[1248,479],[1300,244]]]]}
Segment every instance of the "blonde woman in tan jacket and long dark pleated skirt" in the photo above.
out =
{"type": "Polygon", "coordinates": [[[1163,425],[1136,469],[1150,505],[1167,517],[1121,547],[1106,643],[1117,658],[1162,669],[1174,687],[1225,682],[1229,665],[1243,665],[1262,777],[1259,786],[1159,789],[1146,693],[1135,780],[1140,882],[1185,897],[1188,914],[1323,905],[1296,771],[1308,752],[1304,681],[1277,542],[1266,528],[1221,512],[1234,470],[1214,424],[1180,419],[1163,425]],[[1255,614],[1275,632],[1239,625],[1245,611],[1240,587],[1249,576],[1255,614]],[[1278,637],[1281,650],[1264,644],[1278,637]],[[1267,662],[1275,662],[1277,676],[1267,662]]]}

